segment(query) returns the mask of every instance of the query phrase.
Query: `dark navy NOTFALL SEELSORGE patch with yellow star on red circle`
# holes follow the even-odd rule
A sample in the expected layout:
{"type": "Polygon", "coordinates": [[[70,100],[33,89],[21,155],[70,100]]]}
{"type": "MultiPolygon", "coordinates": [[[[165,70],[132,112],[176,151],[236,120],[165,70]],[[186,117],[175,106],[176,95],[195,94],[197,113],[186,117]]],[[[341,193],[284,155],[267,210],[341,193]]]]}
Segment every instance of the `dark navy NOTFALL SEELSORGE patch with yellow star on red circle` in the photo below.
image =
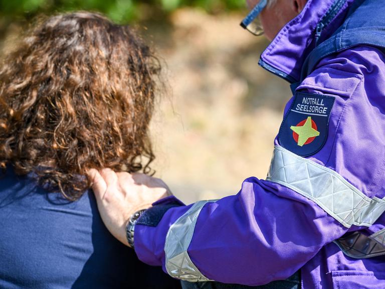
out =
{"type": "Polygon", "coordinates": [[[279,129],[279,144],[301,157],[317,153],[325,144],[332,96],[297,92],[279,129]]]}

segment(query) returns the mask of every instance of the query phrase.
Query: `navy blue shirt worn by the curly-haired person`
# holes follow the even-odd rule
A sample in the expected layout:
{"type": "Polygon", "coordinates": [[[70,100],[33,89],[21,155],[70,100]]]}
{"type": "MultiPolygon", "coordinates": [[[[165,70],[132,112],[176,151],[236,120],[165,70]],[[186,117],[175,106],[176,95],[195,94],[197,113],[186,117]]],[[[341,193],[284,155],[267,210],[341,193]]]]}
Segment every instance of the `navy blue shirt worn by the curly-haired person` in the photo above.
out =
{"type": "Polygon", "coordinates": [[[108,232],[92,193],[69,202],[8,170],[0,222],[0,288],[179,287],[108,232]]]}

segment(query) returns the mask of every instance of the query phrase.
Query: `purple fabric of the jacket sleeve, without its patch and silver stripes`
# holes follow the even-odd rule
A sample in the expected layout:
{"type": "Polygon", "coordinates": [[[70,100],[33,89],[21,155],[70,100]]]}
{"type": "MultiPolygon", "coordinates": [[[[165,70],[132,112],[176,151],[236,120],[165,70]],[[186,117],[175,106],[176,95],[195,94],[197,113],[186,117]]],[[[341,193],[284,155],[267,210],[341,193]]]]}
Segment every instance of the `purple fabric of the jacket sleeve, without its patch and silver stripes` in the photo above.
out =
{"type": "MultiPolygon", "coordinates": [[[[362,46],[323,59],[297,89],[335,97],[327,140],[306,159],[333,170],[368,198],[384,197],[379,193],[385,164],[384,80],[382,54],[362,46]]],[[[280,146],[278,138],[275,145],[280,146]]],[[[156,204],[152,214],[172,202],[156,204]]],[[[172,207],[156,223],[140,222],[135,228],[138,257],[170,273],[166,236],[190,209],[172,207]]],[[[184,226],[194,226],[186,253],[202,280],[246,285],[289,277],[349,229],[309,198],[257,178],[245,180],[237,195],[206,203],[184,226]]]]}

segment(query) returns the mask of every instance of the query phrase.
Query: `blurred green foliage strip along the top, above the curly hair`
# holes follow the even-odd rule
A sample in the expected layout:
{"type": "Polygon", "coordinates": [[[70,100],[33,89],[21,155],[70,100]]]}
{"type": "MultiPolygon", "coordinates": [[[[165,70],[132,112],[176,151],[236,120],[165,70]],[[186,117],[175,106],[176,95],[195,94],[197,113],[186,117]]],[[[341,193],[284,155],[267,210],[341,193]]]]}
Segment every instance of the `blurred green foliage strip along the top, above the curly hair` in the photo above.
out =
{"type": "Polygon", "coordinates": [[[39,13],[92,10],[106,14],[115,22],[127,23],[154,11],[165,15],[185,6],[216,13],[244,8],[245,0],[0,0],[0,22],[29,19],[39,13]]]}

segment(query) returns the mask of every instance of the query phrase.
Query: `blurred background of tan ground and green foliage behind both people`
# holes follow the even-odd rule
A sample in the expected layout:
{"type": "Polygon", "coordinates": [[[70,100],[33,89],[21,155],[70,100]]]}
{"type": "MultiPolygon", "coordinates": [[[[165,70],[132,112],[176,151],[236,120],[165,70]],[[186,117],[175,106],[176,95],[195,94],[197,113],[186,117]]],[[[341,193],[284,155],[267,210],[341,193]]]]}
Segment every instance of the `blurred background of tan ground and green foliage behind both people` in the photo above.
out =
{"type": "Polygon", "coordinates": [[[162,59],[152,167],[177,197],[216,199],[266,177],[291,95],[258,66],[268,42],[240,28],[244,0],[0,0],[0,49],[35,16],[79,9],[136,26],[162,59]]]}

